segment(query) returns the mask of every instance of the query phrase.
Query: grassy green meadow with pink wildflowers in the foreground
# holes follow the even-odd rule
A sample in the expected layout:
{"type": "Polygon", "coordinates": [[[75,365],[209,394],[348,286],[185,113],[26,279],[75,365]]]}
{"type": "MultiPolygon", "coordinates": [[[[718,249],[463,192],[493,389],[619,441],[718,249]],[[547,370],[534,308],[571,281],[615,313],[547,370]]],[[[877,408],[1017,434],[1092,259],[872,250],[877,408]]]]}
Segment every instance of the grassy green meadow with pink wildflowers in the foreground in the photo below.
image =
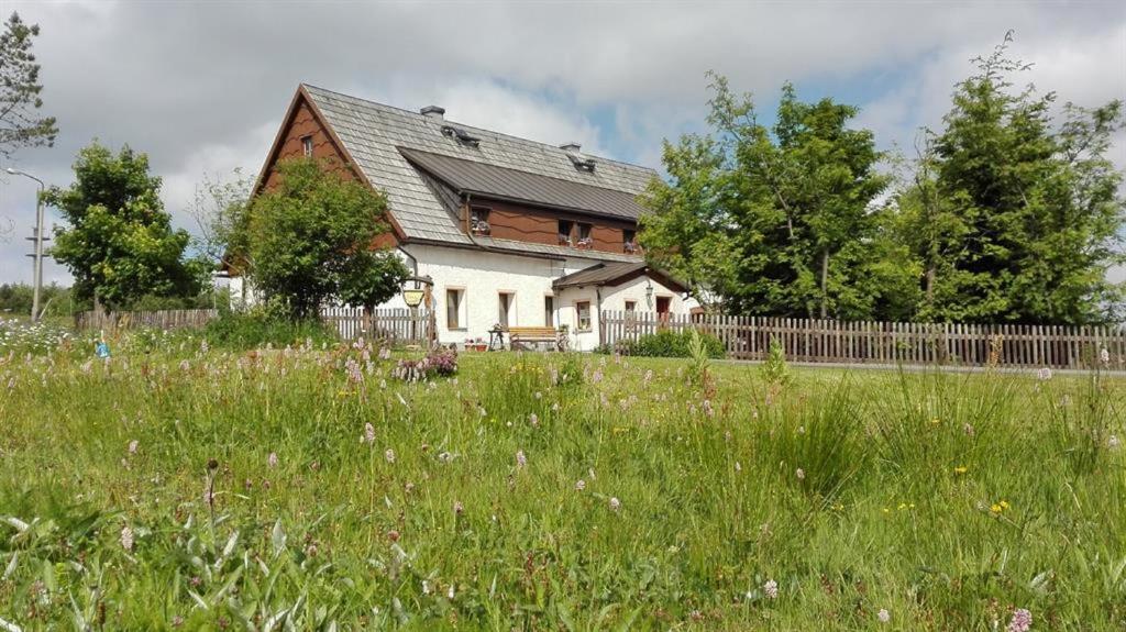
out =
{"type": "Polygon", "coordinates": [[[1126,626],[1118,378],[6,344],[0,630],[1126,626]]]}

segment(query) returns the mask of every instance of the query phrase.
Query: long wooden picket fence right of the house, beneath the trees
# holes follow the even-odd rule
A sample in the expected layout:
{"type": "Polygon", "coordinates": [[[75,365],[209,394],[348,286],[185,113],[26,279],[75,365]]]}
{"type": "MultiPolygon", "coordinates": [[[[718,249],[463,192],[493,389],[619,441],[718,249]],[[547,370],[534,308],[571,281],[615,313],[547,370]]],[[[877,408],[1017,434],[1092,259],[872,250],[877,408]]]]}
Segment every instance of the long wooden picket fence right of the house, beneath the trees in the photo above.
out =
{"type": "Polygon", "coordinates": [[[727,356],[762,360],[777,340],[796,362],[844,364],[954,364],[1084,369],[1101,363],[1126,368],[1126,328],[1054,325],[959,325],[951,323],[841,322],[756,316],[664,315],[602,312],[600,342],[624,341],[662,328],[696,327],[721,341],[727,356]]]}

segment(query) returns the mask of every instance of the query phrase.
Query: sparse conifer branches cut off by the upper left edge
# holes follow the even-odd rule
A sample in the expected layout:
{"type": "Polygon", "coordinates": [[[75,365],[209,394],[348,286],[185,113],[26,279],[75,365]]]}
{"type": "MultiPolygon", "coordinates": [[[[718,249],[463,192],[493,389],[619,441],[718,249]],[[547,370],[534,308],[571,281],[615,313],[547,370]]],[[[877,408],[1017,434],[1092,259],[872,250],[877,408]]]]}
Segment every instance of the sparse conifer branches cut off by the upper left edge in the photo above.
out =
{"type": "Polygon", "coordinates": [[[0,34],[0,154],[10,157],[19,147],[51,146],[59,134],[53,117],[41,117],[39,64],[32,53],[38,25],[26,25],[12,12],[0,34]]]}

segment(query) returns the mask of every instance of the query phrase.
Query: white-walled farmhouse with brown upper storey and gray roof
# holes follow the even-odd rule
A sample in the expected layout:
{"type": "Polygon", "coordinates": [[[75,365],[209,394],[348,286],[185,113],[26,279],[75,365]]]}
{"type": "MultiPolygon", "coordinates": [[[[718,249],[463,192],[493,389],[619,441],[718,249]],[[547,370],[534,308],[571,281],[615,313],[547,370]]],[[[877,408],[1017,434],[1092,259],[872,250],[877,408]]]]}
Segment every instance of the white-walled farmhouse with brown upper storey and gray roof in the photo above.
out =
{"type": "MultiPolygon", "coordinates": [[[[396,249],[430,277],[439,342],[488,341],[495,325],[566,326],[593,349],[600,310],[681,314],[679,281],[647,267],[636,196],[656,173],[313,85],[297,89],[256,192],[294,156],[325,159],[382,190],[396,249]]],[[[240,280],[232,289],[244,291],[240,280]]],[[[404,307],[396,297],[383,307],[404,307]]]]}

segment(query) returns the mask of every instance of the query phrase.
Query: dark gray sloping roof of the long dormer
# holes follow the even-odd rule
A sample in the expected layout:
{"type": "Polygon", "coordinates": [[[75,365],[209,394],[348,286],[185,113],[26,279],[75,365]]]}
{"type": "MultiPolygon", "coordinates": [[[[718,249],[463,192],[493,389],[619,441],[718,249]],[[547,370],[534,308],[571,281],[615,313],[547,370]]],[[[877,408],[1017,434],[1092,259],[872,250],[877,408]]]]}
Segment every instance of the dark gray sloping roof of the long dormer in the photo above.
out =
{"type": "Polygon", "coordinates": [[[633,220],[636,220],[642,213],[642,207],[635,199],[636,195],[625,191],[405,147],[400,148],[400,153],[414,165],[438,177],[458,191],[479,197],[531,202],[633,220]]]}

